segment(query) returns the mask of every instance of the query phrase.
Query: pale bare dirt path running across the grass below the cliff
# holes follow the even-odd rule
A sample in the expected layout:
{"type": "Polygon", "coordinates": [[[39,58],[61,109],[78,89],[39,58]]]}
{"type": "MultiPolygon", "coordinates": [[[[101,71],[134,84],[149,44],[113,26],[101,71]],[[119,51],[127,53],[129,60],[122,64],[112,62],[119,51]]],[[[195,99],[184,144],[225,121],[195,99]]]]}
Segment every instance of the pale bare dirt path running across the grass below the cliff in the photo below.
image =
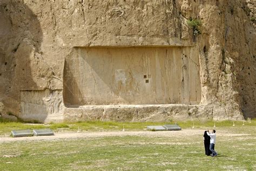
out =
{"type": "MultiPolygon", "coordinates": [[[[29,136],[29,137],[18,137],[12,138],[10,136],[0,137],[1,142],[11,142],[11,141],[33,141],[33,140],[58,140],[58,139],[77,139],[77,138],[100,138],[104,136],[161,136],[161,137],[184,137],[191,135],[202,135],[203,139],[204,130],[203,129],[183,129],[181,131],[115,131],[115,132],[64,132],[55,133],[52,136],[29,136]]],[[[241,136],[250,134],[234,134],[225,131],[219,131],[218,136],[241,136]]]]}

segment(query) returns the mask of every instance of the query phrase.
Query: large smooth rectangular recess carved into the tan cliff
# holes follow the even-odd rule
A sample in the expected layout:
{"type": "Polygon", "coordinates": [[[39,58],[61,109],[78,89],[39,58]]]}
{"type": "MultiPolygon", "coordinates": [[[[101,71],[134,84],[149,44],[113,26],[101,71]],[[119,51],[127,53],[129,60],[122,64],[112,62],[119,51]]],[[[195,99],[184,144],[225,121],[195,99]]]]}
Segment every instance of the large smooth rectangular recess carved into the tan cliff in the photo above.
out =
{"type": "Polygon", "coordinates": [[[65,59],[65,105],[198,104],[190,47],[75,47],[65,59]]]}

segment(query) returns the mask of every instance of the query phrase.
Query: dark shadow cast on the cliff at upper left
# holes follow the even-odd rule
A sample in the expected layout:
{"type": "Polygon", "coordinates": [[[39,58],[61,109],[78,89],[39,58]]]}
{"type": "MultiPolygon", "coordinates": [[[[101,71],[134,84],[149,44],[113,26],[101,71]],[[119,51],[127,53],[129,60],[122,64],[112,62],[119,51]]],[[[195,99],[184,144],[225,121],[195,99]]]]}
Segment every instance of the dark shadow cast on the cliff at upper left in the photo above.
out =
{"type": "Polygon", "coordinates": [[[36,90],[31,67],[38,60],[41,25],[23,1],[0,1],[0,102],[19,114],[20,91],[36,90]]]}

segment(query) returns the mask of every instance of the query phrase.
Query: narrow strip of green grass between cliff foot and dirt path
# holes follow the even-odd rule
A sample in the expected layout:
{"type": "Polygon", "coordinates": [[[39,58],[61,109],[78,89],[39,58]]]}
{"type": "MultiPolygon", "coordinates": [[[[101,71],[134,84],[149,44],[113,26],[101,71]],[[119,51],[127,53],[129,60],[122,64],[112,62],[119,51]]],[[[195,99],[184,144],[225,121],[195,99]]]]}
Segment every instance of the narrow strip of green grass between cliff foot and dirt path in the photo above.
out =
{"type": "MultiPolygon", "coordinates": [[[[249,124],[245,122],[245,125],[256,126],[256,120],[252,120],[249,124]]],[[[65,123],[50,123],[50,124],[29,124],[24,122],[12,122],[9,120],[0,119],[0,135],[10,135],[12,130],[17,129],[43,129],[51,128],[53,131],[58,132],[59,129],[63,132],[63,129],[69,132],[76,132],[79,129],[82,131],[121,131],[123,127],[125,131],[143,131],[148,125],[165,125],[165,124],[178,124],[181,128],[196,128],[213,127],[213,121],[169,121],[169,122],[114,122],[114,121],[86,121],[86,122],[65,122],[65,123]]],[[[235,121],[235,125],[242,125],[242,121],[235,121]]],[[[229,127],[233,125],[233,121],[216,121],[217,127],[229,127]]]]}

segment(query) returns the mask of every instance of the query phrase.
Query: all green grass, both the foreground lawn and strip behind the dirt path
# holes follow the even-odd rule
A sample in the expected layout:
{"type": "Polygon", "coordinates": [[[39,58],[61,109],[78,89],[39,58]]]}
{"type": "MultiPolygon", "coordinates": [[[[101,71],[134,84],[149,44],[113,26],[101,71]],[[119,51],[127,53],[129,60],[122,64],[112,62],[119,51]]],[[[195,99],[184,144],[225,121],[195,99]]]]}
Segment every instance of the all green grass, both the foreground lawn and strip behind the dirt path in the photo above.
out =
{"type": "MultiPolygon", "coordinates": [[[[71,130],[79,126],[90,131],[112,131],[122,129],[123,124],[130,125],[131,130],[145,127],[142,123],[117,122],[79,122],[66,126],[71,130]]],[[[235,127],[230,124],[233,122],[216,123],[215,149],[219,155],[215,158],[204,154],[203,133],[33,140],[0,143],[0,170],[256,170],[255,121],[245,126],[241,126],[241,122],[235,122],[235,127]]],[[[191,122],[179,125],[191,127],[191,122]]],[[[3,123],[0,126],[2,129],[3,123]]],[[[27,125],[23,126],[17,128],[27,125]]],[[[32,126],[45,127],[29,125],[29,128],[32,126]]],[[[63,126],[66,127],[59,125],[63,126]]],[[[212,128],[212,122],[197,122],[195,126],[212,128]]],[[[58,125],[50,124],[49,127],[57,129],[58,125]]]]}

